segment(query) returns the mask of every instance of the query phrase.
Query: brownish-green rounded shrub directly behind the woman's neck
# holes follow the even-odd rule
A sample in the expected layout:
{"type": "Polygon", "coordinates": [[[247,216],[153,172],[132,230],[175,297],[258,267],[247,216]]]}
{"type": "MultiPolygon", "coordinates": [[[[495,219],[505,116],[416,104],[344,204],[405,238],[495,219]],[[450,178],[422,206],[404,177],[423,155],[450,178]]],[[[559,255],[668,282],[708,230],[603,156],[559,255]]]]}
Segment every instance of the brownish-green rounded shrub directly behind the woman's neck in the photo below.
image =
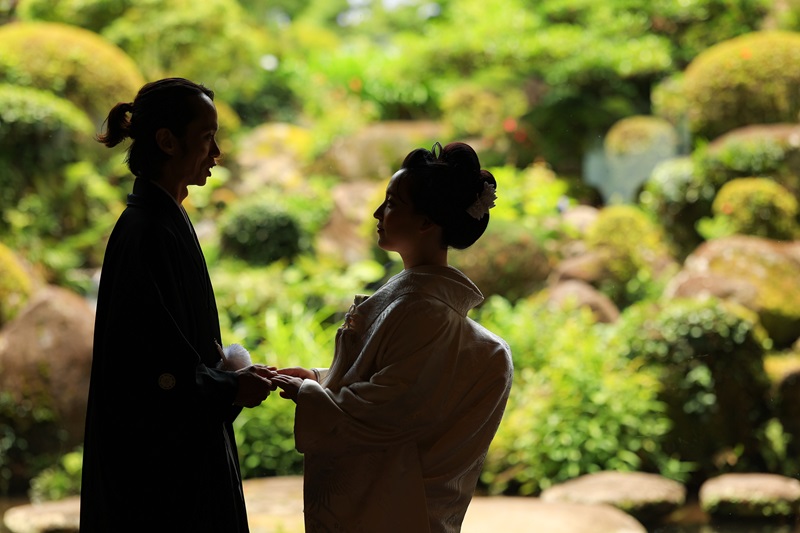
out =
{"type": "Polygon", "coordinates": [[[498,294],[512,301],[536,292],[552,269],[534,235],[504,220],[492,220],[484,235],[463,253],[452,250],[450,263],[484,296],[498,294]]]}

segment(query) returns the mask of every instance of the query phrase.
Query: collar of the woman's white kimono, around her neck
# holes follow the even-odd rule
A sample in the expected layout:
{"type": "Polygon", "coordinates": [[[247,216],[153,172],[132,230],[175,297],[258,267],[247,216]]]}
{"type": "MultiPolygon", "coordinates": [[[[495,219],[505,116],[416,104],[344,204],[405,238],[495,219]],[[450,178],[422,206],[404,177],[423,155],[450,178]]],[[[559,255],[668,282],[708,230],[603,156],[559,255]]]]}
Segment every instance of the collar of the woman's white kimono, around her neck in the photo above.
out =
{"type": "Polygon", "coordinates": [[[461,316],[483,301],[483,294],[461,271],[451,266],[421,266],[403,270],[358,306],[358,313],[375,317],[403,294],[420,292],[450,306],[461,316]],[[376,313],[377,312],[377,313],[376,313]]]}

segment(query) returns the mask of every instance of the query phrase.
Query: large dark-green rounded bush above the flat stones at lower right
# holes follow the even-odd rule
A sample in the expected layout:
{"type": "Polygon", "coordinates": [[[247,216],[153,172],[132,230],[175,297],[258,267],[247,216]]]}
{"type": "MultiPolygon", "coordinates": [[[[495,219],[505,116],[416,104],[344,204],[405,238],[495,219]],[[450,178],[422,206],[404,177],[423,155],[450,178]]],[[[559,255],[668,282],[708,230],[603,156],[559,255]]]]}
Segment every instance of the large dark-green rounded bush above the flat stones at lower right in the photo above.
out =
{"type": "Polygon", "coordinates": [[[615,334],[623,353],[657,371],[673,428],[665,449],[698,465],[695,481],[765,467],[769,339],[753,313],[716,299],[642,303],[615,334]]]}

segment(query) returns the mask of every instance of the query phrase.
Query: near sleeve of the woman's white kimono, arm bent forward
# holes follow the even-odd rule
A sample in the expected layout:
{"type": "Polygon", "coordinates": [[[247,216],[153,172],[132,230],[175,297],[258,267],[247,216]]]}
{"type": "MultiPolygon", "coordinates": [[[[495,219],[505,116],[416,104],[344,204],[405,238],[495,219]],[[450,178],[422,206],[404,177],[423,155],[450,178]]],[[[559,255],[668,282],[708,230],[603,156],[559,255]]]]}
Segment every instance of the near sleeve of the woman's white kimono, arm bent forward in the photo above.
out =
{"type": "Polygon", "coordinates": [[[297,398],[300,452],[338,453],[410,442],[435,424],[438,402],[452,387],[463,317],[427,300],[400,302],[366,343],[374,350],[369,379],[333,392],[306,380],[297,398]]]}

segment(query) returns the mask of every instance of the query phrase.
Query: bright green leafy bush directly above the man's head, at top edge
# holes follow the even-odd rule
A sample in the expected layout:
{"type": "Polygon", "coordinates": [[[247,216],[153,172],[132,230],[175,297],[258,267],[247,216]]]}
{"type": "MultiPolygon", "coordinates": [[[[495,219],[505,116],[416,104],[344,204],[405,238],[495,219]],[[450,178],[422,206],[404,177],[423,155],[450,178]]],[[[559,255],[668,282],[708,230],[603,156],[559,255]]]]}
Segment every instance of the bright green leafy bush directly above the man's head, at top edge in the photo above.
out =
{"type": "Polygon", "coordinates": [[[278,43],[236,0],[137,0],[103,29],[148,79],[202,82],[255,125],[293,108],[286,80],[271,62],[278,43]]]}

